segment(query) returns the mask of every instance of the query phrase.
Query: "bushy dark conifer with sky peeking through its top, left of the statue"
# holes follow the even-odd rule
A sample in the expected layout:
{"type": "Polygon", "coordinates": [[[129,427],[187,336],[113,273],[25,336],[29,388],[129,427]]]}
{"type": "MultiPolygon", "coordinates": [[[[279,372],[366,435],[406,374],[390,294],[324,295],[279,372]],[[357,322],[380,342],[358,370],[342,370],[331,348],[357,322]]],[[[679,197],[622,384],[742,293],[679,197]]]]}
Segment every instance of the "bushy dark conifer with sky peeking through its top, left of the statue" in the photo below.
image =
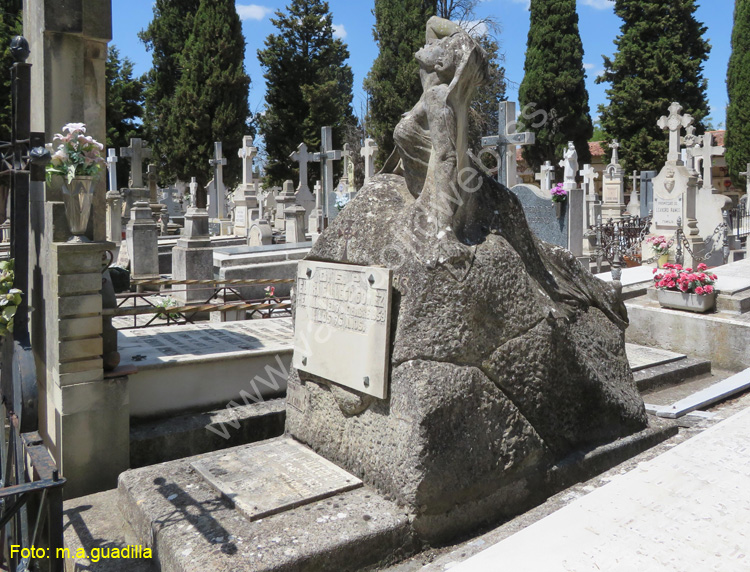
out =
{"type": "MultiPolygon", "coordinates": [[[[328,3],[292,0],[271,23],[277,33],[258,51],[266,80],[266,108],[258,124],[268,153],[266,179],[278,185],[296,177],[289,155],[300,143],[318,149],[320,128],[330,126],[340,148],[347,126],[356,119],[351,107],[354,76],[345,63],[349,50],[333,37],[328,3]]],[[[315,178],[314,169],[309,173],[315,178]]]]}

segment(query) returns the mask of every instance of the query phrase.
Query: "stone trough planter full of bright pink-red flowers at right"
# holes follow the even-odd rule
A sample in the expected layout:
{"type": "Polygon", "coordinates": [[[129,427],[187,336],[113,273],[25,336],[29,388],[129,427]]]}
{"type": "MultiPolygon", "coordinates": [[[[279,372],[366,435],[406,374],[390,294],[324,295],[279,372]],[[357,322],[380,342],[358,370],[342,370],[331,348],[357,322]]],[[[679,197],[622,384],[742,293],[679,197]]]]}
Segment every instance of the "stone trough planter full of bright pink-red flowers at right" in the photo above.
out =
{"type": "Polygon", "coordinates": [[[699,264],[697,271],[679,264],[665,264],[663,272],[654,269],[654,285],[659,304],[665,308],[708,312],[716,305],[716,274],[699,264]]]}

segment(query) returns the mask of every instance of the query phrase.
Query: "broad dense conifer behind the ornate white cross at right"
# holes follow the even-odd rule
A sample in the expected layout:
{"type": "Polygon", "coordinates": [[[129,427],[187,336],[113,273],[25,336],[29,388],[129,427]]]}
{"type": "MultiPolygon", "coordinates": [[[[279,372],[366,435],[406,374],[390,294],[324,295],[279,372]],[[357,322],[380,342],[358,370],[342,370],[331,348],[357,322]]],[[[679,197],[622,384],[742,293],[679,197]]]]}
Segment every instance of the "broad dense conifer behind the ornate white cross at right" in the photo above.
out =
{"type": "Polygon", "coordinates": [[[699,133],[708,115],[703,64],[711,49],[706,27],[695,18],[695,0],[616,0],[623,20],[614,59],[604,58],[609,104],[600,106],[601,125],[618,139],[626,171],[658,170],[667,137],[658,127],[676,101],[696,119],[699,133]]]}

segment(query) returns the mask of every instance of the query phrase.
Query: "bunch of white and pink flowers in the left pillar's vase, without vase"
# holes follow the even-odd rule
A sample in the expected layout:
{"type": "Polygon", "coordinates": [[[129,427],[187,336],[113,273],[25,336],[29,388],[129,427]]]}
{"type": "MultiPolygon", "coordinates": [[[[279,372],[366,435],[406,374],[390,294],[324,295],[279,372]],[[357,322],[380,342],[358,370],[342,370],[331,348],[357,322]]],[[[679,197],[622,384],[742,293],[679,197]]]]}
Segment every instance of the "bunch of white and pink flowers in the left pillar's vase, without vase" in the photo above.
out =
{"type": "Polygon", "coordinates": [[[86,135],[83,123],[68,123],[52,140],[52,145],[60,143],[47,165],[47,181],[53,175],[65,177],[68,184],[76,177],[94,177],[104,168],[102,151],[104,145],[86,135]]]}

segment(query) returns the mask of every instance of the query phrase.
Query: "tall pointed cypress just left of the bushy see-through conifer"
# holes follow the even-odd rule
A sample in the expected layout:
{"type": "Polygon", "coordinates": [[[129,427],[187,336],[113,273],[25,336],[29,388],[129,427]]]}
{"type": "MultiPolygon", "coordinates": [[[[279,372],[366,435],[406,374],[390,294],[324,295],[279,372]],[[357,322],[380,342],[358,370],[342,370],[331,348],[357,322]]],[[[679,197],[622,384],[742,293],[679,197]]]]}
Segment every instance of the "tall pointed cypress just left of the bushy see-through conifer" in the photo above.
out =
{"type": "MultiPolygon", "coordinates": [[[[250,78],[245,73],[245,38],[233,0],[201,0],[193,32],[185,45],[182,77],[167,131],[174,134],[167,157],[183,181],[195,177],[200,188],[211,178],[214,141],[224,144],[225,182],[232,186],[241,164],[237,150],[250,115],[250,78]]],[[[205,206],[205,191],[199,206],[205,206]]]]}

